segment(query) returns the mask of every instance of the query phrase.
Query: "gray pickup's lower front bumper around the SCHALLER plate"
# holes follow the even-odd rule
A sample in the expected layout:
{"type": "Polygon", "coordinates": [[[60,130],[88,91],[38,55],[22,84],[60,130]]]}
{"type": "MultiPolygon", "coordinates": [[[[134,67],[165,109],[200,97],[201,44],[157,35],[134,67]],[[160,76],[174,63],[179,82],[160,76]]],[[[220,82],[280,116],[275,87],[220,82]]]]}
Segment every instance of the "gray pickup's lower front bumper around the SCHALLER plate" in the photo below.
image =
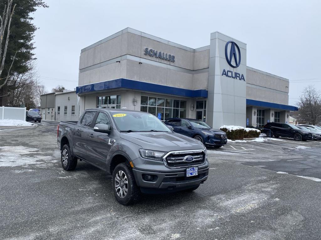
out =
{"type": "Polygon", "coordinates": [[[186,177],[186,168],[177,169],[176,172],[150,172],[133,169],[137,185],[143,193],[165,193],[181,191],[196,187],[207,180],[209,166],[198,166],[198,175],[186,177]],[[152,176],[152,180],[145,180],[144,175],[152,176]]]}

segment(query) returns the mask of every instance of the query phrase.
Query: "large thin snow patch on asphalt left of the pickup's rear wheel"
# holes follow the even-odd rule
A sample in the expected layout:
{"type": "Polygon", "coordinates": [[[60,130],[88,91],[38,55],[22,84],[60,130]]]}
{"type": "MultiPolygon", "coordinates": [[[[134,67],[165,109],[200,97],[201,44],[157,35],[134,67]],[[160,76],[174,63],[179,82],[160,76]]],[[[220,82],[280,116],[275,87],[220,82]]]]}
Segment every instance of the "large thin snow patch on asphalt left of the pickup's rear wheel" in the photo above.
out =
{"type": "Polygon", "coordinates": [[[26,148],[23,146],[0,147],[0,167],[15,167],[29,164],[42,164],[52,161],[51,156],[38,155],[37,148],[26,148]],[[24,156],[37,154],[37,156],[24,156]]]}

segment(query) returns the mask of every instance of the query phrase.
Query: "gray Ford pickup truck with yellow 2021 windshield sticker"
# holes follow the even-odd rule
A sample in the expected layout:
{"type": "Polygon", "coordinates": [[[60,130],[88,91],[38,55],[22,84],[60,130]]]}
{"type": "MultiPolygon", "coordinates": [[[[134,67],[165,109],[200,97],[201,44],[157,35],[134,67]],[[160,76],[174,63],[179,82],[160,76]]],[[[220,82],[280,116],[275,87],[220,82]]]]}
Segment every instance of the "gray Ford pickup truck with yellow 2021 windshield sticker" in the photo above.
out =
{"type": "Polygon", "coordinates": [[[145,112],[86,109],[78,123],[57,127],[62,167],[74,170],[83,160],[107,171],[124,205],[137,201],[140,192],[193,191],[208,176],[206,148],[170,128],[145,112]]]}

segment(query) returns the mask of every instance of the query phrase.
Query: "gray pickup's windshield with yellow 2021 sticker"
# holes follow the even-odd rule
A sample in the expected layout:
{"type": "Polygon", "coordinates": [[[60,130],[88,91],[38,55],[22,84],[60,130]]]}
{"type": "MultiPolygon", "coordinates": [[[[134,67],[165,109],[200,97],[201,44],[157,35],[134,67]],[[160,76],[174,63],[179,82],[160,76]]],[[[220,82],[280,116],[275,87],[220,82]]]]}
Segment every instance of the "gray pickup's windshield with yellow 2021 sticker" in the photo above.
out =
{"type": "Polygon", "coordinates": [[[110,112],[121,132],[171,132],[156,116],[142,112],[110,112]]]}

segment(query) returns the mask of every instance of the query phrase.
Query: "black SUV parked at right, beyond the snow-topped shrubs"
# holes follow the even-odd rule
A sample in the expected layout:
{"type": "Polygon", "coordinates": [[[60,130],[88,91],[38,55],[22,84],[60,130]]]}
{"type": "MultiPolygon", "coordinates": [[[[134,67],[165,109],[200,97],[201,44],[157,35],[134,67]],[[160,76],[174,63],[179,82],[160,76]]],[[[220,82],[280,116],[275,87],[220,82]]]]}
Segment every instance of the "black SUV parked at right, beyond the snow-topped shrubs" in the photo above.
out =
{"type": "Polygon", "coordinates": [[[297,126],[288,123],[267,123],[264,126],[264,132],[268,137],[286,137],[293,138],[296,141],[313,140],[311,132],[301,130],[297,126]]]}

